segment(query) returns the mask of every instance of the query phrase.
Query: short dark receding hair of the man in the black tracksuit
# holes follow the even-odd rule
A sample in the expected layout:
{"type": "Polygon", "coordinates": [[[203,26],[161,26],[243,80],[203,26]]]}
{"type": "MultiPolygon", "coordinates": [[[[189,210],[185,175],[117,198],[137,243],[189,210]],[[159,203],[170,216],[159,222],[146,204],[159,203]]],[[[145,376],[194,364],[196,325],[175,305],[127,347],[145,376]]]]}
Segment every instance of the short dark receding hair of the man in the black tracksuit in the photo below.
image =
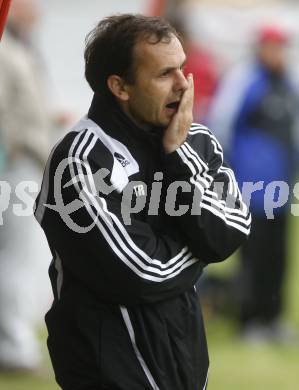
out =
{"type": "Polygon", "coordinates": [[[110,95],[107,79],[113,74],[133,83],[136,43],[169,42],[172,35],[180,39],[176,30],[160,17],[122,14],[101,20],[85,39],[85,77],[90,87],[102,96],[110,95]]]}

